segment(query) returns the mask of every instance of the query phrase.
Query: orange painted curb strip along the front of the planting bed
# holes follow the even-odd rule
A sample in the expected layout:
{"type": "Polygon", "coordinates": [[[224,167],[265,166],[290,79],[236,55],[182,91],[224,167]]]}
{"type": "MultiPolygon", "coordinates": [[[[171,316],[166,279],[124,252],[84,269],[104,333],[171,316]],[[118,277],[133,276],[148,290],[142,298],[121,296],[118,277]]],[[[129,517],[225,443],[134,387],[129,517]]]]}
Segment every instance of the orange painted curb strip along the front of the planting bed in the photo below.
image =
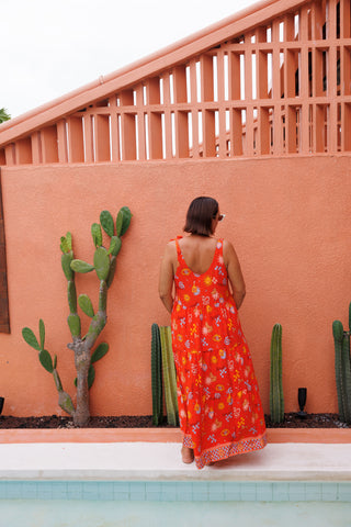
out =
{"type": "MultiPolygon", "coordinates": [[[[351,444],[350,428],[268,428],[268,442],[351,444]]],[[[178,428],[7,428],[0,444],[181,442],[178,428]]]]}

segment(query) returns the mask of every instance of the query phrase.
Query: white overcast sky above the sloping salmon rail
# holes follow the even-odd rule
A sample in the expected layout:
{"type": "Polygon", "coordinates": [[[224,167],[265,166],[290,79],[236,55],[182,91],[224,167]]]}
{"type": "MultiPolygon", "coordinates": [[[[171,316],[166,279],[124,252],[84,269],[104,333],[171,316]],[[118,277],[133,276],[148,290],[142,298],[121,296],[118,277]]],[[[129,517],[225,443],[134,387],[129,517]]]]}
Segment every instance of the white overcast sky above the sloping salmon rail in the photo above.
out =
{"type": "Polygon", "coordinates": [[[0,0],[0,108],[12,117],[256,0],[0,0]]]}

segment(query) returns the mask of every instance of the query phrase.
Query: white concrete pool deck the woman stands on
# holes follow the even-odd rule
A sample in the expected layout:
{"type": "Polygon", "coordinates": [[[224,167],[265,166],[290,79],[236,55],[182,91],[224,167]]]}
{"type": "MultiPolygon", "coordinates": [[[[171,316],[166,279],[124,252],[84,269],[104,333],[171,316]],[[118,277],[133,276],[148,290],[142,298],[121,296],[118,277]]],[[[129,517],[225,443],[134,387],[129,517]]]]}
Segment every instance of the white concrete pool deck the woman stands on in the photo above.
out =
{"type": "Polygon", "coordinates": [[[269,444],[203,470],[179,442],[1,444],[0,481],[351,482],[350,444],[269,444]]]}

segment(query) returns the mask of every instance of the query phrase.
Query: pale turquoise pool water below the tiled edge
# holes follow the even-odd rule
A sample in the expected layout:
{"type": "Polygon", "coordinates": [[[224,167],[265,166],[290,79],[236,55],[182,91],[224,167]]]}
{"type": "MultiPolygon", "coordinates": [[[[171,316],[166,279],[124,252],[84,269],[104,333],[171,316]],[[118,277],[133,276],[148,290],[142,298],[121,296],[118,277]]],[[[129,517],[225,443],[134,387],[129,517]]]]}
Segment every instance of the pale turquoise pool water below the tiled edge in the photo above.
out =
{"type": "Polygon", "coordinates": [[[351,503],[100,502],[0,503],[1,527],[349,527],[351,503]]]}

